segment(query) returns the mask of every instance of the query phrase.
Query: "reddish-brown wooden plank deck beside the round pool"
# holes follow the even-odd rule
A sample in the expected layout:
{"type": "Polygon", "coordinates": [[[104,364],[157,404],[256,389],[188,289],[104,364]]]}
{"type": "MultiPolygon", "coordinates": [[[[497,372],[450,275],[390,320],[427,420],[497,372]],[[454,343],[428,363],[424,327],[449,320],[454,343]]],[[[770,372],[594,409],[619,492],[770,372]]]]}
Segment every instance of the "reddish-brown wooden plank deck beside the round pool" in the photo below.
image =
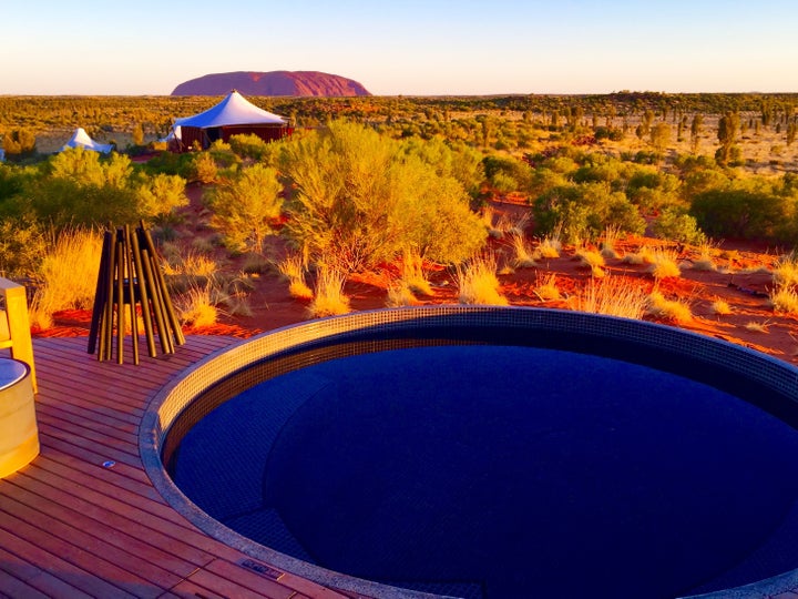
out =
{"type": "Polygon", "coordinates": [[[34,341],[41,455],[0,480],[0,597],[352,597],[245,568],[250,558],[172,509],[142,467],[152,397],[235,342],[188,337],[134,366],[130,353],[123,365],[98,362],[85,337],[34,341]]]}

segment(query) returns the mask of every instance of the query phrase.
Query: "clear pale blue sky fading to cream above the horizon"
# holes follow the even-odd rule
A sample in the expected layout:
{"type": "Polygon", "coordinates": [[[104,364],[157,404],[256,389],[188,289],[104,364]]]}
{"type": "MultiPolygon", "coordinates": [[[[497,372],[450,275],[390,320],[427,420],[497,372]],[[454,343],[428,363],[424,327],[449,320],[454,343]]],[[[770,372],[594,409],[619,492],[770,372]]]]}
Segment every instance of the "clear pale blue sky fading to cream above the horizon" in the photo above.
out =
{"type": "Polygon", "coordinates": [[[798,92],[796,0],[0,0],[0,94],[323,71],[377,95],[798,92]]]}

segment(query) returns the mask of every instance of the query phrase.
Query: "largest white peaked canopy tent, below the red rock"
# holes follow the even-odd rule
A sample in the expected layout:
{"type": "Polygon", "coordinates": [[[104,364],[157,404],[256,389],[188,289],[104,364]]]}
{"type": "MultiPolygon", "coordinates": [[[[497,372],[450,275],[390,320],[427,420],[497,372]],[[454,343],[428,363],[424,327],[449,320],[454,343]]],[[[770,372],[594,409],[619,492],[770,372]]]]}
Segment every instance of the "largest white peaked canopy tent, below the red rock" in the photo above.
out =
{"type": "Polygon", "coordinates": [[[287,119],[256,106],[235,90],[205,112],[175,119],[172,130],[183,148],[197,143],[203,149],[216,140],[227,141],[232,135],[253,133],[274,141],[294,131],[287,119]]]}

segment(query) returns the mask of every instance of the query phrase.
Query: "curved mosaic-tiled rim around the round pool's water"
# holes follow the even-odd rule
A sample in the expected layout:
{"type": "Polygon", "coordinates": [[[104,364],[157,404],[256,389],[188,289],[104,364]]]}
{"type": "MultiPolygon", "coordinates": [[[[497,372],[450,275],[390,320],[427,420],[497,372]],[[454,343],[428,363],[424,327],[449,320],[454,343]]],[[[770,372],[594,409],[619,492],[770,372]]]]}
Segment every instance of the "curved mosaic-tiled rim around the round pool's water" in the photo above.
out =
{"type": "MultiPolygon", "coordinates": [[[[215,383],[241,373],[246,365],[262,362],[295,347],[325,346],[362,334],[390,335],[410,327],[418,331],[433,331],[441,327],[463,326],[538,335],[536,341],[540,343],[531,344],[535,346],[554,344],[567,348],[569,335],[571,335],[574,338],[592,338],[596,342],[605,341],[647,348],[664,356],[689,357],[689,363],[683,364],[682,368],[689,366],[695,370],[698,367],[709,367],[734,373],[774,392],[780,397],[779,404],[789,402],[790,405],[782,406],[785,409],[798,410],[798,368],[740,345],[666,325],[592,313],[519,306],[436,305],[386,308],[278,328],[216,352],[184,369],[153,397],[142,419],[139,445],[145,471],[158,493],[174,509],[208,535],[255,559],[331,588],[368,596],[387,599],[437,597],[327,570],[249,540],[214,520],[194,505],[174,485],[161,456],[164,439],[183,409],[215,383]]],[[[668,369],[681,374],[677,366],[673,364],[668,369]]],[[[239,374],[239,376],[245,375],[239,374]]],[[[252,380],[252,385],[259,382],[252,380]]],[[[751,599],[792,590],[797,585],[798,569],[745,587],[690,597],[751,599]]]]}

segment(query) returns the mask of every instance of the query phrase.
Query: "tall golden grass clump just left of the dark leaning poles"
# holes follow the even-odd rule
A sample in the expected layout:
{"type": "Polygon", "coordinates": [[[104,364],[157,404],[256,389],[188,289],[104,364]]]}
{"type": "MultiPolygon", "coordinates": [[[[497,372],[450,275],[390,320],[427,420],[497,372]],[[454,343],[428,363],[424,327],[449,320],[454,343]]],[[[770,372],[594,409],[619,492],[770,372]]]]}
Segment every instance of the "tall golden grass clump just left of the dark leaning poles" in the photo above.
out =
{"type": "Polygon", "coordinates": [[[31,302],[31,324],[47,329],[62,309],[86,309],[94,302],[102,235],[90,229],[52,233],[52,250],[42,260],[31,302]]]}

